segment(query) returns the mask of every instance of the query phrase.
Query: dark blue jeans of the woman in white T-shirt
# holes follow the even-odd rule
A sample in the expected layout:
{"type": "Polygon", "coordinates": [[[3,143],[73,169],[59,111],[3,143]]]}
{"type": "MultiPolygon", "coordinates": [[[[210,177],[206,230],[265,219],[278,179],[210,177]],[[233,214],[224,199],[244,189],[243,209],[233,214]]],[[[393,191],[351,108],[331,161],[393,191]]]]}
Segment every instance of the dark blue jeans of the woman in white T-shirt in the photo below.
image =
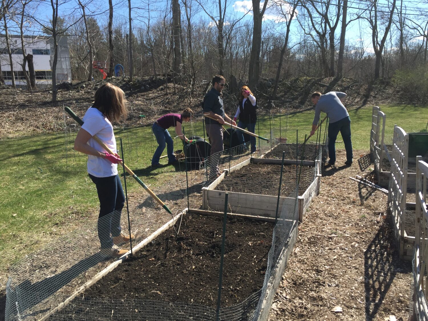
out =
{"type": "Polygon", "coordinates": [[[100,200],[100,214],[98,215],[98,238],[101,248],[108,249],[113,246],[113,237],[119,236],[122,231],[120,227],[120,216],[125,204],[125,195],[119,175],[110,177],[95,177],[88,174],[97,187],[98,199],[100,200]]]}

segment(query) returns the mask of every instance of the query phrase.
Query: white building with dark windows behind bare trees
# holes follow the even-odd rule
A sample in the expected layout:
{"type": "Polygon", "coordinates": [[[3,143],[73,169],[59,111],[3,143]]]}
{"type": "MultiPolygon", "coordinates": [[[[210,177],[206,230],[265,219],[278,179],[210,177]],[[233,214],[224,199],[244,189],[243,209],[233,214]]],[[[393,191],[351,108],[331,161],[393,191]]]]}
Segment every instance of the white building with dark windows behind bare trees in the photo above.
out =
{"type": "MultiPolygon", "coordinates": [[[[12,51],[13,73],[16,86],[27,86],[22,71],[23,55],[21,37],[9,36],[12,51]]],[[[33,55],[36,85],[39,87],[52,86],[53,39],[48,36],[24,36],[24,50],[33,55]]],[[[12,85],[9,53],[6,47],[6,38],[0,35],[0,63],[6,85],[12,85]]],[[[25,68],[28,71],[28,65],[25,68]]],[[[58,37],[58,62],[56,64],[56,83],[71,82],[70,53],[67,37],[58,37]]]]}

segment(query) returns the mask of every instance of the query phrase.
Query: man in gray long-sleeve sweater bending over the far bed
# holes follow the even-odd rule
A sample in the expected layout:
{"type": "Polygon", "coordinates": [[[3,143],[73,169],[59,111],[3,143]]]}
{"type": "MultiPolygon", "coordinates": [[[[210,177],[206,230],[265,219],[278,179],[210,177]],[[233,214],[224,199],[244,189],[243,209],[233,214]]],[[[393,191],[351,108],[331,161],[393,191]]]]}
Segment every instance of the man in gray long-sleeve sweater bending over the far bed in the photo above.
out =
{"type": "Polygon", "coordinates": [[[342,135],[343,143],[346,150],[345,165],[352,164],[352,142],[351,142],[351,119],[348,111],[343,106],[342,101],[346,98],[345,92],[327,92],[321,95],[321,92],[314,92],[311,95],[311,100],[315,104],[315,117],[312,122],[311,135],[315,134],[321,111],[327,113],[329,119],[328,125],[328,155],[330,160],[329,165],[334,165],[336,162],[336,138],[337,135],[342,135]]]}

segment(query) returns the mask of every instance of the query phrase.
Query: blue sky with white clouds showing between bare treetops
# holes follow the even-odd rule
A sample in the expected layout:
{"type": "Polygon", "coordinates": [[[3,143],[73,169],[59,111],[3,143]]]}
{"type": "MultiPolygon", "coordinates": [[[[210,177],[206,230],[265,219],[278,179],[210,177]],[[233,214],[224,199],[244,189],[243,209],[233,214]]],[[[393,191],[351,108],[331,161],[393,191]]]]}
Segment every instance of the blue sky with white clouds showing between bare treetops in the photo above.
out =
{"type": "MultiPolygon", "coordinates": [[[[88,1],[88,0],[86,0],[88,1]]],[[[289,5],[285,1],[282,0],[269,0],[268,2],[268,9],[265,13],[265,21],[264,24],[266,27],[269,28],[270,31],[274,30],[277,33],[282,33],[284,31],[284,28],[282,26],[282,22],[284,22],[286,19],[283,15],[280,14],[280,12],[287,12],[289,5]]],[[[83,3],[85,3],[85,0],[82,0],[83,3]]],[[[320,3],[322,1],[319,1],[320,3]]],[[[358,11],[357,8],[361,8],[367,5],[369,0],[349,0],[348,1],[348,20],[355,15],[355,13],[358,11]]],[[[98,19],[100,24],[106,25],[108,20],[108,3],[106,0],[96,0],[91,1],[91,5],[88,6],[88,11],[92,11],[95,13],[95,17],[98,19]]],[[[208,12],[213,12],[214,14],[218,10],[218,2],[212,1],[211,3],[205,2],[206,6],[209,8],[210,5],[212,7],[211,9],[207,9],[208,12]]],[[[224,1],[223,1],[224,3],[224,1]]],[[[387,11],[388,1],[387,0],[379,0],[378,6],[380,11],[387,11]]],[[[411,2],[411,1],[403,1],[404,5],[409,7],[407,9],[407,15],[409,18],[412,19],[418,19],[421,18],[423,14],[428,15],[428,5],[425,3],[420,2],[411,2]]],[[[134,16],[134,26],[137,26],[138,24],[141,24],[142,21],[146,21],[148,17],[148,4],[147,3],[141,3],[137,1],[131,1],[131,5],[133,6],[133,16],[134,16]],[[139,8],[140,6],[140,8],[139,8]],[[140,22],[139,22],[140,21],[140,22]]],[[[150,15],[152,21],[155,20],[157,15],[163,15],[164,8],[166,6],[169,6],[169,2],[167,3],[165,0],[161,0],[158,2],[152,2],[150,3],[150,15]]],[[[194,6],[197,6],[196,3],[193,3],[194,6]]],[[[397,0],[397,6],[400,5],[400,0],[397,0]]],[[[128,2],[127,1],[120,1],[116,0],[113,1],[114,6],[114,16],[115,20],[121,20],[124,25],[127,24],[127,18],[128,18],[128,2]]],[[[260,4],[260,6],[263,6],[263,3],[260,4]]],[[[60,6],[59,8],[59,15],[61,16],[67,16],[70,15],[72,12],[76,13],[76,9],[78,4],[77,0],[68,0],[65,4],[60,6]]],[[[298,10],[303,10],[303,8],[300,8],[298,10]]],[[[231,19],[241,18],[246,12],[248,14],[243,18],[243,20],[251,21],[252,20],[252,1],[251,0],[239,0],[239,1],[230,1],[228,2],[227,7],[227,14],[230,17],[234,17],[231,19]]],[[[87,12],[88,13],[88,12],[87,12]]],[[[297,13],[298,14],[298,13],[297,13]]],[[[40,21],[49,21],[51,18],[51,8],[49,3],[46,3],[45,5],[39,5],[36,8],[36,17],[40,21]]],[[[185,18],[184,15],[184,9],[182,9],[182,18],[185,18]]],[[[209,21],[209,17],[205,14],[203,10],[199,10],[199,12],[194,16],[194,21],[198,21],[199,18],[206,19],[209,21]]],[[[287,17],[288,18],[288,17],[287,17]]],[[[426,20],[426,18],[425,18],[426,20]]],[[[34,29],[38,29],[38,25],[34,24],[32,26],[34,29]]],[[[301,30],[298,26],[297,21],[293,21],[292,23],[292,31],[291,31],[291,43],[293,41],[296,41],[301,34],[301,30]]],[[[336,39],[339,39],[340,36],[340,23],[338,28],[336,29],[336,39]]],[[[367,53],[373,52],[372,44],[371,44],[371,30],[369,29],[369,26],[366,21],[359,20],[355,21],[350,24],[350,26],[347,28],[347,40],[357,45],[358,43],[362,43],[363,46],[366,48],[367,53]]]]}

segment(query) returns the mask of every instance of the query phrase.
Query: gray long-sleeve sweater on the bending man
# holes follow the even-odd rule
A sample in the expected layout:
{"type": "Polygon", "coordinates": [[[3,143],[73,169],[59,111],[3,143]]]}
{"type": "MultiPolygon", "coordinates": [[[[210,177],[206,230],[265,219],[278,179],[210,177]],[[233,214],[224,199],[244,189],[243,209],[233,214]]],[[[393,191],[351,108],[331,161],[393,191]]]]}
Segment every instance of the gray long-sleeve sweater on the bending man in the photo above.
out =
{"type": "Polygon", "coordinates": [[[330,124],[349,116],[348,111],[340,101],[340,98],[344,97],[346,97],[345,92],[327,92],[327,94],[321,95],[315,105],[315,117],[312,125],[318,124],[321,112],[328,115],[330,124]]]}

